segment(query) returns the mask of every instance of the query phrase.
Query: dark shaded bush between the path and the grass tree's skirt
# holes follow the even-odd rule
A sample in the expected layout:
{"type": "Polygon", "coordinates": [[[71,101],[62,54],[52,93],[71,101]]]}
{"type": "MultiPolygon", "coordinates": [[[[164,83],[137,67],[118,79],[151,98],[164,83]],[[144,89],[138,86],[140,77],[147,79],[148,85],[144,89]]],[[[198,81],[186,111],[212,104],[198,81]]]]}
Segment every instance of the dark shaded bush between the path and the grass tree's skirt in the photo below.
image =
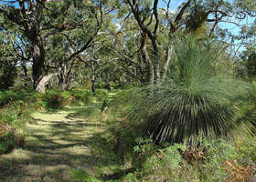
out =
{"type": "Polygon", "coordinates": [[[133,155],[135,136],[130,122],[118,118],[115,123],[108,123],[104,132],[91,137],[91,152],[96,158],[99,157],[100,166],[122,165],[133,155]]]}

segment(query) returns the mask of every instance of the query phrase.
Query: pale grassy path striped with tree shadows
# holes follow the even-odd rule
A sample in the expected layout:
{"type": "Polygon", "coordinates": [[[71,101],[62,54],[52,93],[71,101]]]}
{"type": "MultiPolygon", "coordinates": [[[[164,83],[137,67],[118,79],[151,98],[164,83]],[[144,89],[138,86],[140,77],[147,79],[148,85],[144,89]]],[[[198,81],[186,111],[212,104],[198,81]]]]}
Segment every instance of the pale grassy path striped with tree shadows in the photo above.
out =
{"type": "Polygon", "coordinates": [[[88,138],[103,128],[97,106],[65,107],[32,117],[25,146],[0,159],[1,182],[65,182],[75,168],[93,173],[88,138]]]}

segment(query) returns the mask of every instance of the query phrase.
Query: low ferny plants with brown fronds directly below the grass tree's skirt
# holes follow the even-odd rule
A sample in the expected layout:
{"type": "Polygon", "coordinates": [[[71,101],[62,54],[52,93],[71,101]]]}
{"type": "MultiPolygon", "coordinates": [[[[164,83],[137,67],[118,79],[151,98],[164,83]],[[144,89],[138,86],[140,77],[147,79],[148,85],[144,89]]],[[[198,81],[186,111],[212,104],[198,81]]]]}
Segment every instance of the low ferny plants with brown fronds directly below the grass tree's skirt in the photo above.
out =
{"type": "MultiPolygon", "coordinates": [[[[255,142],[255,138],[254,138],[255,142]]],[[[129,181],[130,177],[137,181],[225,181],[235,179],[227,164],[236,164],[234,170],[240,173],[243,168],[250,167],[251,158],[242,154],[247,153],[244,149],[252,146],[238,148],[225,140],[203,140],[200,147],[192,149],[184,144],[168,146],[155,146],[152,142],[143,139],[137,140],[134,147],[134,159],[137,163],[136,172],[129,177],[123,177],[129,181]],[[192,158],[192,159],[191,159],[192,158]],[[245,162],[247,161],[247,162],[245,162]]],[[[254,146],[255,148],[255,146],[254,146]]],[[[253,152],[252,152],[253,153],[253,152]]],[[[255,162],[255,161],[254,161],[255,162]]],[[[254,164],[255,166],[255,164],[254,164]]],[[[248,174],[241,173],[246,179],[248,174]]],[[[232,180],[231,180],[232,181],[232,180]]],[[[236,180],[235,180],[236,181],[236,180]]]]}

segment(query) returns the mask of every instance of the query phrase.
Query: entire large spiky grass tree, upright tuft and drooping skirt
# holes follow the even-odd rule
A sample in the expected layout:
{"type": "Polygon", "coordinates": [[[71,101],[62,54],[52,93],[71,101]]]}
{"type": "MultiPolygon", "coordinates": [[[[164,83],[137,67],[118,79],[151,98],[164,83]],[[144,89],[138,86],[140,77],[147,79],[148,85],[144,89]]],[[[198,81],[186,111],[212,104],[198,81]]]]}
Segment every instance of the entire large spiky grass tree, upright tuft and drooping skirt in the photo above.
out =
{"type": "Polygon", "coordinates": [[[237,119],[236,105],[247,99],[247,84],[217,72],[220,51],[215,44],[183,37],[174,50],[171,74],[144,88],[132,120],[142,121],[155,142],[191,144],[202,137],[229,136],[244,124],[237,119]]]}

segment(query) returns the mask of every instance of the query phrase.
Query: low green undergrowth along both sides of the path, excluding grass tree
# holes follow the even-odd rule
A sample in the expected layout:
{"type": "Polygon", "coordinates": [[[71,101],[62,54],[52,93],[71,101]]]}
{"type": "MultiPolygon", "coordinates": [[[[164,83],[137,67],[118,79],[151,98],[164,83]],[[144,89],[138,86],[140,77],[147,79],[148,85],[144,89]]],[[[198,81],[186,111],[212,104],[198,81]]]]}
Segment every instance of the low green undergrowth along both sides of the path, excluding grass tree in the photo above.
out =
{"type": "MultiPolygon", "coordinates": [[[[138,90],[99,90],[95,96],[81,88],[48,90],[45,94],[31,90],[1,92],[1,154],[26,142],[23,126],[31,112],[100,102],[101,120],[107,127],[90,138],[95,174],[74,169],[72,181],[253,181],[255,136],[202,139],[197,146],[168,142],[156,145],[144,135],[141,123],[134,122],[131,112],[127,112],[138,102],[138,90]]],[[[245,117],[254,119],[253,106],[252,101],[240,106],[242,113],[249,113],[245,117]]]]}

